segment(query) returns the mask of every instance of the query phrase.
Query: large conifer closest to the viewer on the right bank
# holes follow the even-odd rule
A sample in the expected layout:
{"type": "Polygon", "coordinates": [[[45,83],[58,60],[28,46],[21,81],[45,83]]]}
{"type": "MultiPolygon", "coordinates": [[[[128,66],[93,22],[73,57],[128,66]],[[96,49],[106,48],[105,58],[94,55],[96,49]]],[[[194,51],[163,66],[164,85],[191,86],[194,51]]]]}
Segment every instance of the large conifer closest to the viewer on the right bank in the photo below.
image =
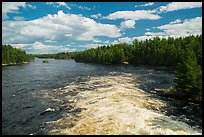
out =
{"type": "Polygon", "coordinates": [[[175,89],[183,98],[195,99],[202,94],[202,70],[192,49],[187,48],[178,64],[175,89]]]}

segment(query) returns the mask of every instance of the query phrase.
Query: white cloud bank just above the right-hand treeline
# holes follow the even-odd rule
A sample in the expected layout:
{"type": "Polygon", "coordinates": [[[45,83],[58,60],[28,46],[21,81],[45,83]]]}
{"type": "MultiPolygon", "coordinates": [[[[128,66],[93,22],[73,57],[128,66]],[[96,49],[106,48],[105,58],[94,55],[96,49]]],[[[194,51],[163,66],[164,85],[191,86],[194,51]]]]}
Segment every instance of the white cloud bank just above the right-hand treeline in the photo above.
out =
{"type": "Polygon", "coordinates": [[[138,37],[122,37],[118,38],[118,42],[132,43],[135,39],[138,41],[145,41],[155,37],[166,39],[168,37],[178,38],[189,35],[200,35],[202,34],[202,17],[186,19],[183,22],[180,19],[177,19],[157,28],[160,29],[161,32],[146,32],[144,36],[138,37]]]}

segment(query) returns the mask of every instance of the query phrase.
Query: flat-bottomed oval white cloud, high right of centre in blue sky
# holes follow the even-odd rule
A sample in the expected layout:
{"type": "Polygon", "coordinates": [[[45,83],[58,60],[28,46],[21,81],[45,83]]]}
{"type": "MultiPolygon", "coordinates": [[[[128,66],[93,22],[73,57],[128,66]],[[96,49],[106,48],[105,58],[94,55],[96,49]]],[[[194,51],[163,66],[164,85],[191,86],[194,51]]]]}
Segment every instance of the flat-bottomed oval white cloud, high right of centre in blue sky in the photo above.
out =
{"type": "Polygon", "coordinates": [[[136,10],[136,11],[117,11],[109,14],[105,19],[131,19],[131,20],[157,20],[161,17],[157,14],[153,14],[150,10],[136,10]]]}

